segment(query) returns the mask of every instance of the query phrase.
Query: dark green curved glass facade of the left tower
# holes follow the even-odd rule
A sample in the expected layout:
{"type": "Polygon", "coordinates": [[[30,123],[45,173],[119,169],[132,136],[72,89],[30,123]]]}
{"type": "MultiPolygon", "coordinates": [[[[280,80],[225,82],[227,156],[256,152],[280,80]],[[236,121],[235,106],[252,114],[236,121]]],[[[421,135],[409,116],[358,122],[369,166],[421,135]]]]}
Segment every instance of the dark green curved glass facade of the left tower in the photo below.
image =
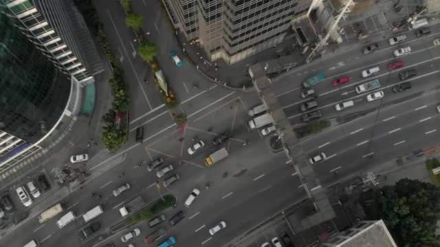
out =
{"type": "Polygon", "coordinates": [[[54,127],[69,99],[67,76],[0,14],[0,157],[54,127]]]}

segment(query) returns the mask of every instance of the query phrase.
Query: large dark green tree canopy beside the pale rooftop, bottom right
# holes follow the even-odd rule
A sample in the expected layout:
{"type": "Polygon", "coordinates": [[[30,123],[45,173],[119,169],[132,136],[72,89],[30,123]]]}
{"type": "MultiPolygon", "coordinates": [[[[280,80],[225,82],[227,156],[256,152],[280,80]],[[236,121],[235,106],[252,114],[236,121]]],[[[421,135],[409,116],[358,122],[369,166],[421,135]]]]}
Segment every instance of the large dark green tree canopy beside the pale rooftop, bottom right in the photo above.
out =
{"type": "Polygon", "coordinates": [[[393,186],[366,193],[369,217],[384,220],[398,246],[440,246],[434,235],[440,219],[440,189],[430,183],[404,178],[393,186]]]}

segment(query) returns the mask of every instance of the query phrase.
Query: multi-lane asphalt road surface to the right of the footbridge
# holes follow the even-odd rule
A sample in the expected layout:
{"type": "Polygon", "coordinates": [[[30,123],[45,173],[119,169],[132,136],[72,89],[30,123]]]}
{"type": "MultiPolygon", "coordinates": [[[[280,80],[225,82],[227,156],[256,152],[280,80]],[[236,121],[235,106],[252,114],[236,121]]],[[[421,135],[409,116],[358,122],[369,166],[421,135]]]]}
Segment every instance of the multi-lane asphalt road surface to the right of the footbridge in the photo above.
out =
{"type": "MultiPolygon", "coordinates": [[[[318,108],[332,126],[320,134],[301,140],[305,152],[314,156],[325,152],[327,160],[314,165],[323,185],[341,178],[368,172],[372,167],[399,158],[417,150],[438,145],[437,127],[434,125],[439,113],[440,50],[432,47],[433,37],[440,34],[439,25],[431,27],[432,35],[416,38],[408,32],[406,43],[390,47],[388,40],[377,41],[380,50],[364,55],[360,49],[347,51],[329,58],[317,60],[272,80],[278,100],[291,121],[292,126],[303,125],[299,106],[310,99],[301,99],[300,84],[316,73],[323,73],[325,80],[314,86],[318,92],[318,108]],[[398,47],[410,46],[412,52],[395,58],[398,47]],[[388,71],[386,65],[395,60],[404,62],[404,67],[388,71]],[[360,71],[369,67],[380,67],[380,73],[371,78],[361,78],[360,71]],[[416,69],[417,76],[410,78],[412,89],[393,93],[392,87],[402,82],[399,73],[416,69]],[[351,81],[333,87],[333,79],[348,76],[351,81]],[[299,78],[300,80],[295,80],[299,78]],[[377,79],[380,89],[357,94],[355,86],[377,79]],[[366,95],[384,91],[384,97],[367,102],[366,95]],[[354,107],[336,111],[335,105],[353,100],[354,107]]],[[[311,111],[313,111],[311,110],[311,111]]]]}

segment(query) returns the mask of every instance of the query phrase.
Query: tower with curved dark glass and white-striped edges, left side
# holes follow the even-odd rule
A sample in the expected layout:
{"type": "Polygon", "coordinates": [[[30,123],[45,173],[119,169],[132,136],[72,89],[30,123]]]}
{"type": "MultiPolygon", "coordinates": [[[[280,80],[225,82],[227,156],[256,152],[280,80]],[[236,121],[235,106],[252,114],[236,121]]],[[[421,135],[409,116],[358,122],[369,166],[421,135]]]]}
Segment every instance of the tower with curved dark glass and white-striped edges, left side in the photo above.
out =
{"type": "Polygon", "coordinates": [[[0,12],[1,179],[52,148],[103,67],[73,1],[0,0],[0,12]]]}

